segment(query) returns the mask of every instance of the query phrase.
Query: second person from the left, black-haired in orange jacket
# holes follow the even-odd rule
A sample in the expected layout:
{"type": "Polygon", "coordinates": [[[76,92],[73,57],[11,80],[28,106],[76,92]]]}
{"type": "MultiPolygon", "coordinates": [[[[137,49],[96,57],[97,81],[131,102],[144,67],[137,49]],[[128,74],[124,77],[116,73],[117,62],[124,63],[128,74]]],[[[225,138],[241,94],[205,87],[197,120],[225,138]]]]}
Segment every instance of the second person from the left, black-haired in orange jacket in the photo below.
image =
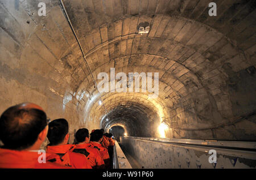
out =
{"type": "Polygon", "coordinates": [[[68,144],[68,121],[66,119],[55,119],[49,123],[47,134],[49,144],[46,152],[60,157],[61,161],[51,158],[51,161],[76,169],[92,169],[89,161],[84,155],[72,152],[76,145],[68,144]]]}

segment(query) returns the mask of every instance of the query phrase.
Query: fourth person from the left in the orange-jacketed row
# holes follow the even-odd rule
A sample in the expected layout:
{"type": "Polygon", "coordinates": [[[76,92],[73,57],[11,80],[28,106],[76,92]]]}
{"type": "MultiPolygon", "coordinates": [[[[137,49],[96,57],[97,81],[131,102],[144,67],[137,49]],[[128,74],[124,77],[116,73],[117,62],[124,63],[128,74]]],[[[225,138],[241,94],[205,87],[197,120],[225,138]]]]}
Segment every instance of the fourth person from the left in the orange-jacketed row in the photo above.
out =
{"type": "Polygon", "coordinates": [[[89,147],[96,148],[100,151],[101,157],[104,160],[105,168],[110,168],[110,159],[108,149],[102,146],[103,132],[101,130],[94,130],[90,134],[90,145],[89,147]]]}

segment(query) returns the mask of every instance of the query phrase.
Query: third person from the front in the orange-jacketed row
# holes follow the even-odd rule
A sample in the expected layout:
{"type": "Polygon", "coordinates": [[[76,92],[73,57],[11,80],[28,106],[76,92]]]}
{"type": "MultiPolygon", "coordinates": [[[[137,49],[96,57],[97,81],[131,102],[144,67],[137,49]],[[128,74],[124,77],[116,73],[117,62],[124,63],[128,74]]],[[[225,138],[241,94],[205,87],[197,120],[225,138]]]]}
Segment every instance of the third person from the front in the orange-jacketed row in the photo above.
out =
{"type": "Polygon", "coordinates": [[[88,129],[80,128],[76,132],[75,136],[77,144],[75,149],[73,149],[73,152],[85,155],[93,169],[104,169],[105,164],[101,157],[100,151],[98,151],[96,148],[89,147],[90,138],[88,129]]]}

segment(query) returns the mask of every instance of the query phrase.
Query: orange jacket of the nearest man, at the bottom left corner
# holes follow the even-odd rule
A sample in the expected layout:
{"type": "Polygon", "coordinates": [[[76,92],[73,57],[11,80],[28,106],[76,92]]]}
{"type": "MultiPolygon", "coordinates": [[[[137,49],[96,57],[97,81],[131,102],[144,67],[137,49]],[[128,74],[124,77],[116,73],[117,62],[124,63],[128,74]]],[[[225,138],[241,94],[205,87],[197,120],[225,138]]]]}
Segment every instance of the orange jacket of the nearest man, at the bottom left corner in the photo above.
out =
{"type": "MultiPolygon", "coordinates": [[[[0,148],[0,168],[11,169],[68,169],[67,166],[56,164],[55,162],[46,161],[39,163],[38,158],[42,153],[31,151],[16,151],[11,149],[0,148]]],[[[46,153],[46,159],[52,156],[46,153]]]]}

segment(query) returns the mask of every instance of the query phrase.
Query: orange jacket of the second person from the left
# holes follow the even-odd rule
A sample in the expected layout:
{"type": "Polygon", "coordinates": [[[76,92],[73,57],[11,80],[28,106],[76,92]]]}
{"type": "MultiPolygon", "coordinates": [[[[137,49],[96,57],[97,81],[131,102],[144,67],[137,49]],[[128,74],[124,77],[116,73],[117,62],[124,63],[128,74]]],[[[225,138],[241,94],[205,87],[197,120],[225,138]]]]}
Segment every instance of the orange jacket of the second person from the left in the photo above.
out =
{"type": "Polygon", "coordinates": [[[58,161],[54,156],[48,157],[48,161],[55,162],[58,164],[64,164],[76,169],[92,169],[90,162],[84,155],[72,152],[76,145],[65,144],[65,145],[48,145],[46,152],[58,155],[61,161],[58,161]]]}

